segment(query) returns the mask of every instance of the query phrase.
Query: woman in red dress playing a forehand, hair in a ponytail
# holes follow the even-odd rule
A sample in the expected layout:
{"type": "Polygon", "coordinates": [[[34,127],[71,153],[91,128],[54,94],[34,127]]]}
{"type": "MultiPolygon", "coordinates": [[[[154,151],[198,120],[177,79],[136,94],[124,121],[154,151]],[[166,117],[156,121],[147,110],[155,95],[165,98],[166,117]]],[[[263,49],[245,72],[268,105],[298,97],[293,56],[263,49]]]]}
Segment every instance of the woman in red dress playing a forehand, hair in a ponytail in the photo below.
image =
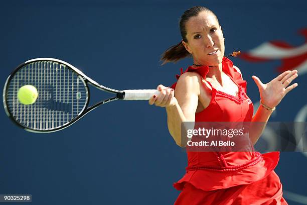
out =
{"type": "MultiPolygon", "coordinates": [[[[159,85],[161,92],[149,99],[150,105],[165,107],[168,128],[177,145],[182,122],[264,122],[281,99],[297,83],[297,71],[285,71],[264,84],[252,76],[260,92],[260,103],[253,116],[253,105],[246,94],[246,81],[240,70],[223,57],[222,28],[216,15],[204,7],[187,10],[180,20],[182,41],[170,47],[164,63],[193,57],[193,65],[177,76],[171,88],[159,85]],[[175,94],[176,90],[176,94],[175,94]]],[[[252,135],[255,144],[261,135],[252,135]]],[[[187,172],[174,187],[182,190],[175,204],[287,204],[282,185],[273,169],[279,152],[187,152],[187,172]]]]}

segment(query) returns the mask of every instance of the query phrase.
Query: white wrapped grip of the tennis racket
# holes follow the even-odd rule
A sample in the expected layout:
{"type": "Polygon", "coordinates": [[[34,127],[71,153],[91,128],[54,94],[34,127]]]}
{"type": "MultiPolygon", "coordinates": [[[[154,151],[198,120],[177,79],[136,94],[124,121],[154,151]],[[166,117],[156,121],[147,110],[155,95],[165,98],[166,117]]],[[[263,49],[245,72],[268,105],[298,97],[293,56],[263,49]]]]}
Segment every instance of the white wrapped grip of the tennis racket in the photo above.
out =
{"type": "Polygon", "coordinates": [[[157,89],[135,89],[123,90],[125,92],[124,100],[148,100],[152,95],[160,93],[157,89]]]}

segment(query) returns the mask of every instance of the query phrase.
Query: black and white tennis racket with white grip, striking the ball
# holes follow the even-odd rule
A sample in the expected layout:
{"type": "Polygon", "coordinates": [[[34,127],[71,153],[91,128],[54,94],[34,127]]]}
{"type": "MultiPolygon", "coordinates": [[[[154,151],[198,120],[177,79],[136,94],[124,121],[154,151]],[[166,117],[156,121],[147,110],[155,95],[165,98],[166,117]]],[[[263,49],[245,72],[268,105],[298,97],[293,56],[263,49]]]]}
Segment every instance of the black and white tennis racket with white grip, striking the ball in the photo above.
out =
{"type": "Polygon", "coordinates": [[[148,100],[157,89],[116,90],[98,84],[67,62],[54,58],[36,58],[19,65],[8,77],[3,101],[7,115],[26,131],[49,133],[72,125],[98,106],[123,100],[148,100]],[[24,85],[37,88],[34,104],[23,105],[17,93],[24,85]],[[116,94],[89,107],[89,84],[116,94]]]}

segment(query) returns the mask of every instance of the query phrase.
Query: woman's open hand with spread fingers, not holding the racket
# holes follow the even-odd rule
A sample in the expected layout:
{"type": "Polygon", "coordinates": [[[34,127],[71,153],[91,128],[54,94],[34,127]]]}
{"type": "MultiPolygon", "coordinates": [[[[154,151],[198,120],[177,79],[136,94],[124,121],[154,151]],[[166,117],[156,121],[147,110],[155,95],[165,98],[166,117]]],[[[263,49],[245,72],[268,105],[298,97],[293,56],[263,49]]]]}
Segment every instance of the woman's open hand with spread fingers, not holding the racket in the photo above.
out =
{"type": "Polygon", "coordinates": [[[297,83],[288,86],[296,77],[297,70],[287,70],[272,79],[270,82],[263,84],[258,77],[254,75],[252,76],[259,88],[262,103],[269,108],[276,107],[281,99],[297,86],[297,83]]]}

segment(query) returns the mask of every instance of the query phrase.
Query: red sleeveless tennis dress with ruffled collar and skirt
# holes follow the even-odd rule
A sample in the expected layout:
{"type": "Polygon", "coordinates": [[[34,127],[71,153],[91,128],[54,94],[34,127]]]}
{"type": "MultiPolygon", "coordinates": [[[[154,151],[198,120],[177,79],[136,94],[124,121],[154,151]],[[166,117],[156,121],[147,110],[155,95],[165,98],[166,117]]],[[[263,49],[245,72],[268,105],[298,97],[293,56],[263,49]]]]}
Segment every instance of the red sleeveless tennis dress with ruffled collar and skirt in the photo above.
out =
{"type": "MultiPolygon", "coordinates": [[[[251,122],[253,105],[246,95],[246,81],[229,59],[222,66],[239,87],[239,93],[233,96],[212,86],[211,91],[203,83],[212,98],[206,109],[195,114],[195,121],[251,122]]],[[[190,66],[185,72],[197,72],[205,79],[208,71],[208,66],[190,66]]],[[[172,88],[175,87],[176,83],[172,88]]],[[[279,152],[187,152],[187,155],[187,172],[174,183],[176,189],[182,190],[175,205],[287,204],[280,180],[273,171],[279,152]]]]}

